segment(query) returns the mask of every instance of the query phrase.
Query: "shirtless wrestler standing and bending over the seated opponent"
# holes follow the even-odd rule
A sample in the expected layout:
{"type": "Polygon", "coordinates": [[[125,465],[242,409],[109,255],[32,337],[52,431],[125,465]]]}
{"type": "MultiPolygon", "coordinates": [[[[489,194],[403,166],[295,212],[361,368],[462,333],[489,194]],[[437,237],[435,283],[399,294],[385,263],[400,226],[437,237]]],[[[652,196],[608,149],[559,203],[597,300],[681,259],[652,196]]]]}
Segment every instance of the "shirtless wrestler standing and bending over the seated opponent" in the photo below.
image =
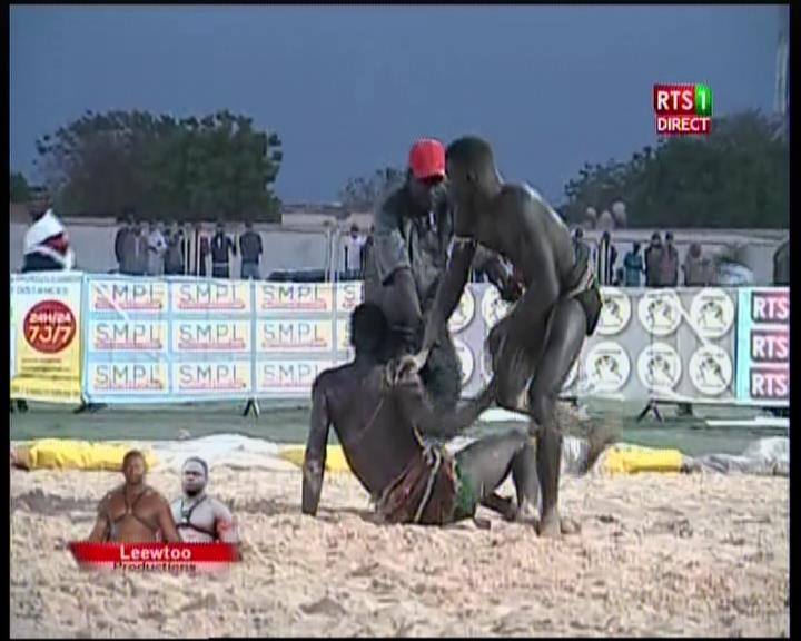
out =
{"type": "Polygon", "coordinates": [[[399,371],[419,369],[458,304],[478,243],[506,257],[525,293],[487,338],[498,405],[527,413],[537,435],[542,489],[540,533],[571,530],[558,513],[562,433],[556,401],[584,337],[595,331],[601,295],[586,257],[576,259],[570,231],[526,185],[504,184],[490,145],[473,137],[446,155],[449,198],[456,207],[455,243],[428,317],[422,351],[399,371]],[[526,392],[527,386],[527,394],[526,392]]]}

